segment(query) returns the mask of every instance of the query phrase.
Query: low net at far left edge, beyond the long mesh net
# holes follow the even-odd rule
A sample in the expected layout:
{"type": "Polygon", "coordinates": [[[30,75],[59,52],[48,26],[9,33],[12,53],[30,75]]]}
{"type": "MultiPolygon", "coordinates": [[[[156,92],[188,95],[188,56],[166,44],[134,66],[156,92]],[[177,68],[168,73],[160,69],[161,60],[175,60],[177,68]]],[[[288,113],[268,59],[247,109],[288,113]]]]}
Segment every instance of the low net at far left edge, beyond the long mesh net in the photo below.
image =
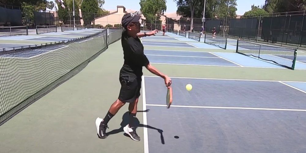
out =
{"type": "Polygon", "coordinates": [[[0,27],[0,36],[28,35],[27,26],[0,27]]]}

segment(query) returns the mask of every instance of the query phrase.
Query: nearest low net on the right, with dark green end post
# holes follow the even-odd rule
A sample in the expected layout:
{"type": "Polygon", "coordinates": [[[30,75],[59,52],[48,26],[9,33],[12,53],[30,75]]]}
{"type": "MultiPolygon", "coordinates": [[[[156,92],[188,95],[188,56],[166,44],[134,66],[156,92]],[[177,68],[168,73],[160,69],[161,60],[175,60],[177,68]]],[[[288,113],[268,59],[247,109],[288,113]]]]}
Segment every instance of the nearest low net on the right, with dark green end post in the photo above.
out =
{"type": "Polygon", "coordinates": [[[288,69],[294,69],[297,57],[297,49],[261,45],[243,40],[237,40],[236,53],[270,61],[288,69]]]}

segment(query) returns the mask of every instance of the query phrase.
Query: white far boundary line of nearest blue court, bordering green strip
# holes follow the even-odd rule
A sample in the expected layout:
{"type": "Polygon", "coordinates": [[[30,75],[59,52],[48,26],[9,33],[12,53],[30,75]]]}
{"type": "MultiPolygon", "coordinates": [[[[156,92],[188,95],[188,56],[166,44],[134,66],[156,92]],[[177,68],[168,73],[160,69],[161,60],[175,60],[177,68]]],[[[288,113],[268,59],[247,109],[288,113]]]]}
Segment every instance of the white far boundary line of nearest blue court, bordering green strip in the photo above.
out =
{"type": "MultiPolygon", "coordinates": [[[[159,77],[159,76],[145,76],[144,77],[159,77]]],[[[200,77],[177,77],[177,76],[169,76],[170,78],[177,79],[200,79],[200,80],[233,80],[233,81],[259,81],[259,82],[280,82],[276,80],[248,80],[248,79],[218,79],[218,78],[200,78],[200,77]]],[[[281,81],[281,82],[297,82],[297,83],[306,83],[303,81],[281,81]]]]}

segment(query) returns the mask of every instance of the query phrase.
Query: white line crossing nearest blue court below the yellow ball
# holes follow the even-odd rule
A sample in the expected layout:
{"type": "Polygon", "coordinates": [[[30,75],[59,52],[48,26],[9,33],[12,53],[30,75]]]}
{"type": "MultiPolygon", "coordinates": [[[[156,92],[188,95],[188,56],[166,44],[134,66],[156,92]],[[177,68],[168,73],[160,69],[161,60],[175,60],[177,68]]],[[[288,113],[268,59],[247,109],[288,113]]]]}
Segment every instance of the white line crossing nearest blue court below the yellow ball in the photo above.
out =
{"type": "MultiPolygon", "coordinates": [[[[166,105],[156,105],[156,104],[147,104],[147,106],[166,107],[166,105]]],[[[182,106],[182,105],[171,105],[170,107],[210,108],[210,109],[238,109],[238,110],[278,110],[278,111],[302,111],[302,112],[306,112],[306,110],[303,110],[303,109],[253,108],[253,107],[214,107],[214,106],[182,106]]]]}

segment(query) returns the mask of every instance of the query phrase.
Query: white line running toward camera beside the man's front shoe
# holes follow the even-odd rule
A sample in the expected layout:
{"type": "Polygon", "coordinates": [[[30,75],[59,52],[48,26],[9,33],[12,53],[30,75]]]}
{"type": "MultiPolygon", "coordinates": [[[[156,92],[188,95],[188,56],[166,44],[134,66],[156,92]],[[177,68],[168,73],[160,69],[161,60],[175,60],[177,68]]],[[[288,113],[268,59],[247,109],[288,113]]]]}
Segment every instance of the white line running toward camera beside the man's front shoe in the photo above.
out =
{"type": "MultiPolygon", "coordinates": [[[[147,110],[146,106],[146,88],[144,86],[144,76],[142,76],[142,103],[143,110],[147,110]]],[[[147,112],[144,112],[144,125],[147,125],[147,112]]],[[[144,153],[149,153],[149,142],[148,142],[148,129],[144,127],[144,153]]]]}

